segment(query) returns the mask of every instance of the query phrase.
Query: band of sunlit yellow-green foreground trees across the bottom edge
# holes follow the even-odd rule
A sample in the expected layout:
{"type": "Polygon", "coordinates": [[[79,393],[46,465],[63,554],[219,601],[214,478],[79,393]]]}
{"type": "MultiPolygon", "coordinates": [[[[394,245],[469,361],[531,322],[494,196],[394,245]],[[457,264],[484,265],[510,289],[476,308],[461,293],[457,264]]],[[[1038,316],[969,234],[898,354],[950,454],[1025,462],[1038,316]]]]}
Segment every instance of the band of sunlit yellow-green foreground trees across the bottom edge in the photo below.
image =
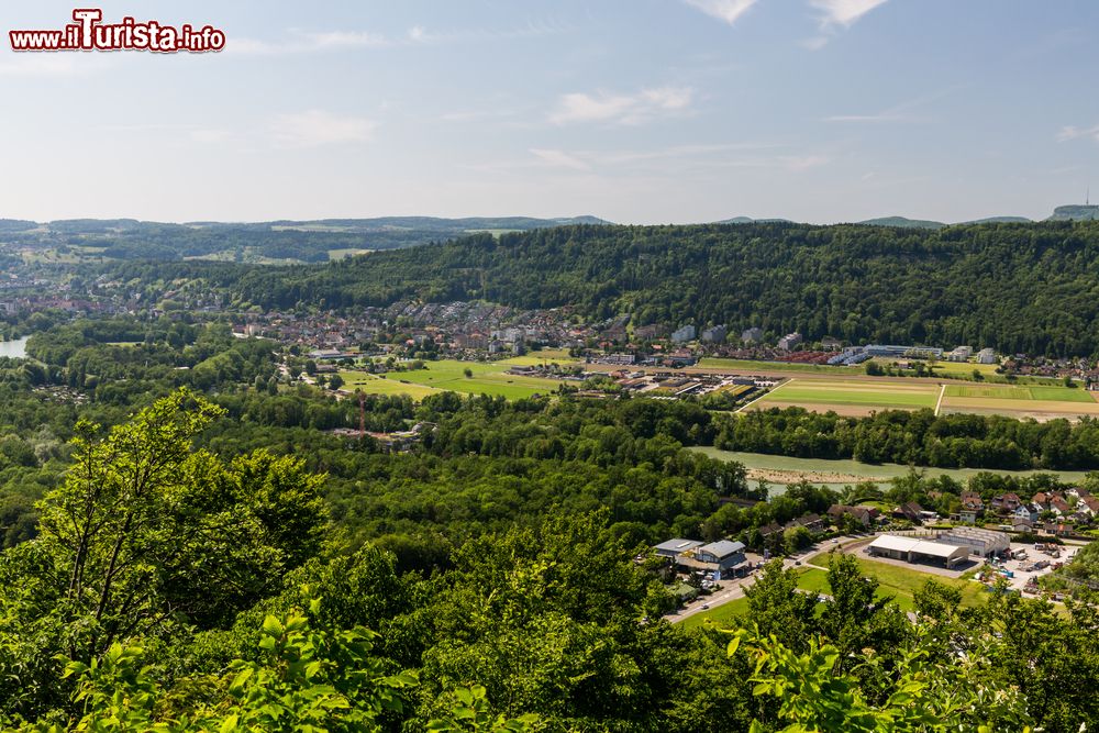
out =
{"type": "Polygon", "coordinates": [[[197,447],[221,412],[177,391],[82,438],[42,534],[0,555],[5,729],[1068,732],[1099,714],[1087,595],[1062,618],[932,581],[913,622],[837,553],[826,598],[773,563],[732,633],[689,631],[607,509],[401,574],[332,531],[300,462],[197,447]]]}

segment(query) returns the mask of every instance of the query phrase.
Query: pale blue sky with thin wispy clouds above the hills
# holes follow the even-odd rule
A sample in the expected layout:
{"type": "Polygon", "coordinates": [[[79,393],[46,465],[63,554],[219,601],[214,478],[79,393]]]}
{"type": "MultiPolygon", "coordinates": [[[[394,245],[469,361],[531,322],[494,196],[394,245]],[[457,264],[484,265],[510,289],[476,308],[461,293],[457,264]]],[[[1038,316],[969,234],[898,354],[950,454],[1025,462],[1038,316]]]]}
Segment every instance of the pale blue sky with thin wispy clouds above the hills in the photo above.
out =
{"type": "Polygon", "coordinates": [[[0,216],[1047,216],[1099,199],[1094,0],[116,2],[210,54],[21,53],[0,216]]]}

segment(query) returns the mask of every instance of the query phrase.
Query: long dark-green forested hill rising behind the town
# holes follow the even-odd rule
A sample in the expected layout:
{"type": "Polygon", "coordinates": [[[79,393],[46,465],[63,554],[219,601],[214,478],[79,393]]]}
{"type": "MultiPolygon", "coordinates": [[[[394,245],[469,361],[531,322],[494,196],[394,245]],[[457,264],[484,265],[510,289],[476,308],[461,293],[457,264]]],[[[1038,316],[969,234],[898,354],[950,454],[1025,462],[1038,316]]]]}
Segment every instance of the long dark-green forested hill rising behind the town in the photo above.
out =
{"type": "MultiPolygon", "coordinates": [[[[589,318],[632,313],[634,324],[798,330],[810,340],[1050,355],[1099,349],[1099,224],[1091,222],[939,231],[789,223],[564,226],[317,268],[188,273],[270,308],[485,299],[521,308],[571,304],[589,318]]],[[[124,274],[142,271],[130,266],[124,274]]]]}

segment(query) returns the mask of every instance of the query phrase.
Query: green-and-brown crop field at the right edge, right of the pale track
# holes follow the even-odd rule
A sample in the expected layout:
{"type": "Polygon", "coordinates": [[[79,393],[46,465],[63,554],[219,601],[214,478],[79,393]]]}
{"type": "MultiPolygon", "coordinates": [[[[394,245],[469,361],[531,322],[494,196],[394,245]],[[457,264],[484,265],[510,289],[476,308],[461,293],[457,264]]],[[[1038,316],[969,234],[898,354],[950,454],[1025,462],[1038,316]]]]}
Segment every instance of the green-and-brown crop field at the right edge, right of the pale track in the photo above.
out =
{"type": "Polygon", "coordinates": [[[941,407],[943,413],[972,412],[1010,418],[1099,417],[1099,402],[1080,388],[1034,385],[948,385],[941,407]]]}

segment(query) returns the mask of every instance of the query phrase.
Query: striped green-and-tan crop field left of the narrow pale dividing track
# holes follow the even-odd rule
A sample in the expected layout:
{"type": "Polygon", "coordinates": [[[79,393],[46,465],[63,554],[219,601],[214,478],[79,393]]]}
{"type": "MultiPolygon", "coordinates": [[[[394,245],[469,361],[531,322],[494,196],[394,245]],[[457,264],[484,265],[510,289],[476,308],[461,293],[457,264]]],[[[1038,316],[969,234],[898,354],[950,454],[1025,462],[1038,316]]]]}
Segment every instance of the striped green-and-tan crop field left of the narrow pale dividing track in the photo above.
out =
{"type": "Polygon", "coordinates": [[[874,382],[843,379],[790,379],[779,385],[747,409],[803,407],[818,412],[866,415],[880,410],[934,409],[940,387],[930,381],[911,384],[874,382]]]}

